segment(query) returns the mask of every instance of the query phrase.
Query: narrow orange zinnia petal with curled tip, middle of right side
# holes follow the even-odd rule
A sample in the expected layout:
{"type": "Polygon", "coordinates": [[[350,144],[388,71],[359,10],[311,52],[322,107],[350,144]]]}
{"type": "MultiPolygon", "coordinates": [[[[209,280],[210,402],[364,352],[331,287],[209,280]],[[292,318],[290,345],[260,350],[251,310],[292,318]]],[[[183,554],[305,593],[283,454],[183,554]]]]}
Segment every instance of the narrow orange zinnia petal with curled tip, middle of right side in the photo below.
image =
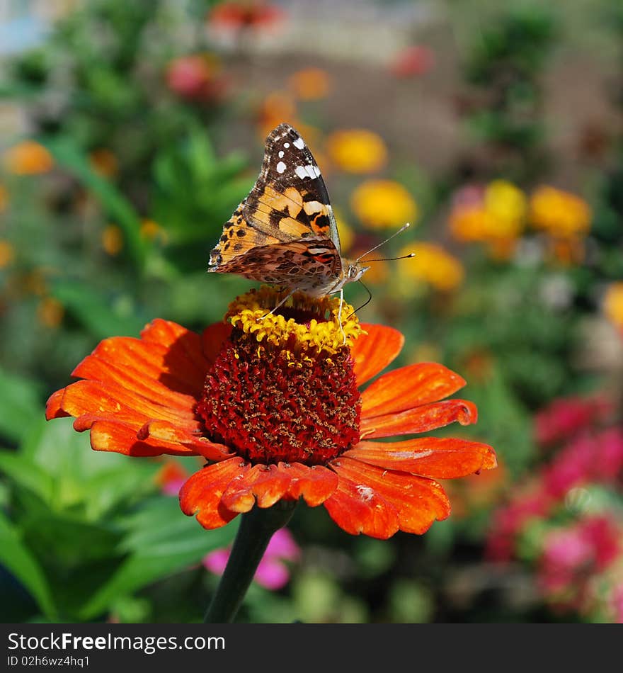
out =
{"type": "Polygon", "coordinates": [[[375,418],[362,417],[360,434],[362,439],[408,435],[442,428],[455,421],[461,425],[469,425],[475,423],[477,418],[476,405],[472,402],[445,400],[398,414],[385,414],[375,418]]]}

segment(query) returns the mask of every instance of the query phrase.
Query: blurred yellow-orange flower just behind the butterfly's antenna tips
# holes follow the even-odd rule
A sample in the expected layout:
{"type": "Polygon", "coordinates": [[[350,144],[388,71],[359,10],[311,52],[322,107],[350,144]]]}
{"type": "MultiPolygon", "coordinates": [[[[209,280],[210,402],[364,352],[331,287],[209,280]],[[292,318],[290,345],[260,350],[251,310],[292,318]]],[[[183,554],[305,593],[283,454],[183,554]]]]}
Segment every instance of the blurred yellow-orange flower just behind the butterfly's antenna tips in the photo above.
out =
{"type": "Polygon", "coordinates": [[[440,245],[411,243],[401,249],[399,255],[411,252],[415,253],[414,257],[397,262],[403,282],[421,281],[442,291],[454,290],[462,283],[463,265],[440,245]]]}

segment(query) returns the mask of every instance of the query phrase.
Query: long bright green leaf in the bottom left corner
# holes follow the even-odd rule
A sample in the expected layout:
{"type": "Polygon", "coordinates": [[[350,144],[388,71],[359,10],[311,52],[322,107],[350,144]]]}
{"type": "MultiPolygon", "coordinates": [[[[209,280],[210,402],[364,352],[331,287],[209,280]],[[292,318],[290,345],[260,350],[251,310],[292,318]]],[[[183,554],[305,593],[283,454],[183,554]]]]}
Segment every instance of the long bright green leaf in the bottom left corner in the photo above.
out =
{"type": "Polygon", "coordinates": [[[47,579],[37,560],[23,545],[18,529],[0,512],[0,562],[24,585],[50,621],[57,609],[47,579]]]}

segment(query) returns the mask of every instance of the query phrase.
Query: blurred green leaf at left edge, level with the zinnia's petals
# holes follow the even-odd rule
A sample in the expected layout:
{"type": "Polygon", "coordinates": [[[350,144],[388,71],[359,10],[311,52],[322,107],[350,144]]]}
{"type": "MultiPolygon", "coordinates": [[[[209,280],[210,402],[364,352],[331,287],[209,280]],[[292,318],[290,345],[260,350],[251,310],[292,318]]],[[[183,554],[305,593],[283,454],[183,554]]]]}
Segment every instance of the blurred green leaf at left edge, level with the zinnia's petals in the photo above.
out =
{"type": "Polygon", "coordinates": [[[0,369],[0,434],[20,440],[40,413],[41,386],[0,369]]]}

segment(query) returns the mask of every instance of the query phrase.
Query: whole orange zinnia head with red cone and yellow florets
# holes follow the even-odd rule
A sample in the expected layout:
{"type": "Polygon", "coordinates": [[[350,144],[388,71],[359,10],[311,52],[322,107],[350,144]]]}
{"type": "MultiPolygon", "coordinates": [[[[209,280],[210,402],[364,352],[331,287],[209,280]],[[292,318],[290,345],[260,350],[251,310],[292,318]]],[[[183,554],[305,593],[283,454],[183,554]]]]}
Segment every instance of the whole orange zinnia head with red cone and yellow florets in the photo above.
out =
{"type": "Polygon", "coordinates": [[[200,455],[207,465],[180,492],[181,508],[218,528],[254,505],[324,504],[348,533],[424,533],[450,514],[437,479],[493,468],[493,449],[465,439],[411,437],[476,407],[445,398],[465,381],[435,363],[385,373],[403,336],[360,325],[338,298],[251,290],[230,324],[202,334],[156,319],[140,339],[105,339],[54,393],[47,418],[74,416],[91,446],[130,456],[200,455]]]}

